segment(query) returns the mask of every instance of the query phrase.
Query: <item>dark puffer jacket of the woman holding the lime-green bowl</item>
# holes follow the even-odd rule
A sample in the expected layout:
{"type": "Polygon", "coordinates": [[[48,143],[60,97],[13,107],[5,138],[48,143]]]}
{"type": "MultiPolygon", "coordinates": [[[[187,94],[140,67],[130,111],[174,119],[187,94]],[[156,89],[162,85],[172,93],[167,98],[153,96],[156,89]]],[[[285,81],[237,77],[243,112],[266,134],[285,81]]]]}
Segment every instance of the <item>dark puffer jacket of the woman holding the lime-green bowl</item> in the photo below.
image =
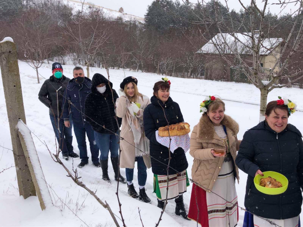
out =
{"type": "Polygon", "coordinates": [[[236,165],[248,174],[244,205],[251,213],[265,218],[287,219],[301,212],[303,187],[302,135],[288,124],[280,133],[266,121],[245,132],[236,157],[236,165]],[[288,179],[287,190],[280,195],[259,192],[254,184],[256,172],[275,171],[288,179]]]}

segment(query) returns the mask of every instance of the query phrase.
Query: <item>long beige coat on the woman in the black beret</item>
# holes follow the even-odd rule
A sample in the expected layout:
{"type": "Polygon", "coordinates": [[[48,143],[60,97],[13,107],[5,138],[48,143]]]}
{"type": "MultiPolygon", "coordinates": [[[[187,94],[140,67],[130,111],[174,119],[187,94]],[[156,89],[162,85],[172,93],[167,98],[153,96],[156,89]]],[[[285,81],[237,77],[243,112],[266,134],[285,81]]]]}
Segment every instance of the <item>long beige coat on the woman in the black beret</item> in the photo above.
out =
{"type": "MultiPolygon", "coordinates": [[[[135,116],[135,118],[143,121],[143,112],[145,107],[150,103],[150,100],[147,96],[143,95],[143,97],[138,97],[137,103],[140,103],[139,114],[135,116]],[[143,99],[142,99],[143,98],[143,99]]],[[[117,117],[122,118],[122,127],[121,127],[121,137],[124,140],[120,140],[121,147],[121,157],[120,157],[120,168],[134,168],[135,167],[135,142],[134,135],[131,131],[130,125],[126,119],[126,111],[128,111],[126,106],[126,97],[121,96],[116,101],[117,105],[117,117]],[[131,143],[127,143],[127,142],[131,143]]],[[[144,131],[141,134],[141,140],[146,139],[144,131]]],[[[144,150],[143,150],[144,151],[144,150]]],[[[144,151],[145,152],[145,151],[144,151]]],[[[150,157],[147,155],[142,155],[144,163],[147,168],[151,167],[150,157]]]]}

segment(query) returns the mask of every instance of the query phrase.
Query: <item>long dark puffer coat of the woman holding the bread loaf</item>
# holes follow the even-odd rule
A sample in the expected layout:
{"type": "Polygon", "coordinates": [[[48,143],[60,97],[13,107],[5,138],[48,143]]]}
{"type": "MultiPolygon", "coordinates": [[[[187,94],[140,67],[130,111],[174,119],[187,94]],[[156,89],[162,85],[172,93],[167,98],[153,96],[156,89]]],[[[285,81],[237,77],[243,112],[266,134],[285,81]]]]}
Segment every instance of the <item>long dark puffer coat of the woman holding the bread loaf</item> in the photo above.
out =
{"type": "MultiPolygon", "coordinates": [[[[167,126],[162,107],[165,109],[165,114],[170,125],[184,122],[184,120],[178,103],[174,102],[171,97],[163,104],[163,102],[154,95],[150,98],[150,102],[144,110],[143,124],[145,136],[150,140],[149,152],[153,157],[150,159],[151,169],[154,174],[167,175],[167,166],[159,161],[168,164],[169,150],[156,140],[156,131],[160,127],[167,126]]],[[[171,152],[171,157],[170,166],[176,169],[176,171],[182,172],[188,167],[187,159],[182,148],[179,147],[174,153],[171,152]]],[[[169,175],[176,174],[176,171],[170,168],[169,175]]]]}

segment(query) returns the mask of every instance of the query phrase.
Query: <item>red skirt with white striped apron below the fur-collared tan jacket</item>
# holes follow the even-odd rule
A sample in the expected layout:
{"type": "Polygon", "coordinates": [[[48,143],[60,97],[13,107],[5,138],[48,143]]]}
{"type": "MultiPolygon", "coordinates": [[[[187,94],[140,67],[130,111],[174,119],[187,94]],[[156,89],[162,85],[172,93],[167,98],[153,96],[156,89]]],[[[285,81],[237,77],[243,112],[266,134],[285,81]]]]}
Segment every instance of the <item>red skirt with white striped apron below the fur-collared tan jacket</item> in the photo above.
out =
{"type": "Polygon", "coordinates": [[[238,200],[232,162],[223,162],[212,191],[192,185],[188,218],[203,227],[234,227],[238,223],[238,200]]]}

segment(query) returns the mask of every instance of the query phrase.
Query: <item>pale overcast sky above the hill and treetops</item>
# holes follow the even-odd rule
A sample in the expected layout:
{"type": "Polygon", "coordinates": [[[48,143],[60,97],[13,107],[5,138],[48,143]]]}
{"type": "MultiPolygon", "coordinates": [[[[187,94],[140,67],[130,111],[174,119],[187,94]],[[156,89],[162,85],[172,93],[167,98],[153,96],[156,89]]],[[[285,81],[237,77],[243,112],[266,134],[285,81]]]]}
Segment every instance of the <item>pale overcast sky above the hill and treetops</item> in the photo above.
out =
{"type": "MultiPolygon", "coordinates": [[[[209,0],[206,0],[209,1],[209,0]]],[[[223,5],[225,5],[224,0],[220,0],[223,5]]],[[[127,14],[132,14],[138,17],[144,17],[144,14],[146,13],[147,6],[150,5],[153,0],[86,0],[87,3],[93,3],[98,6],[102,6],[105,8],[109,8],[112,10],[119,10],[120,7],[124,9],[124,12],[127,14]]],[[[182,3],[182,0],[180,0],[182,3]]],[[[197,3],[197,0],[190,0],[191,3],[197,3]]],[[[259,6],[263,8],[262,0],[257,0],[257,3],[259,3],[259,6]]],[[[246,6],[249,5],[250,0],[242,0],[242,3],[246,6]]],[[[278,3],[278,0],[269,0],[269,3],[278,3]]],[[[241,6],[238,2],[238,0],[228,0],[228,5],[230,9],[235,9],[236,11],[239,11],[241,9],[241,6]]],[[[273,6],[269,5],[268,8],[270,9],[270,12],[279,14],[281,9],[280,6],[273,6]]],[[[287,9],[285,9],[283,12],[291,12],[293,9],[296,9],[297,7],[288,6],[287,9]]]]}

